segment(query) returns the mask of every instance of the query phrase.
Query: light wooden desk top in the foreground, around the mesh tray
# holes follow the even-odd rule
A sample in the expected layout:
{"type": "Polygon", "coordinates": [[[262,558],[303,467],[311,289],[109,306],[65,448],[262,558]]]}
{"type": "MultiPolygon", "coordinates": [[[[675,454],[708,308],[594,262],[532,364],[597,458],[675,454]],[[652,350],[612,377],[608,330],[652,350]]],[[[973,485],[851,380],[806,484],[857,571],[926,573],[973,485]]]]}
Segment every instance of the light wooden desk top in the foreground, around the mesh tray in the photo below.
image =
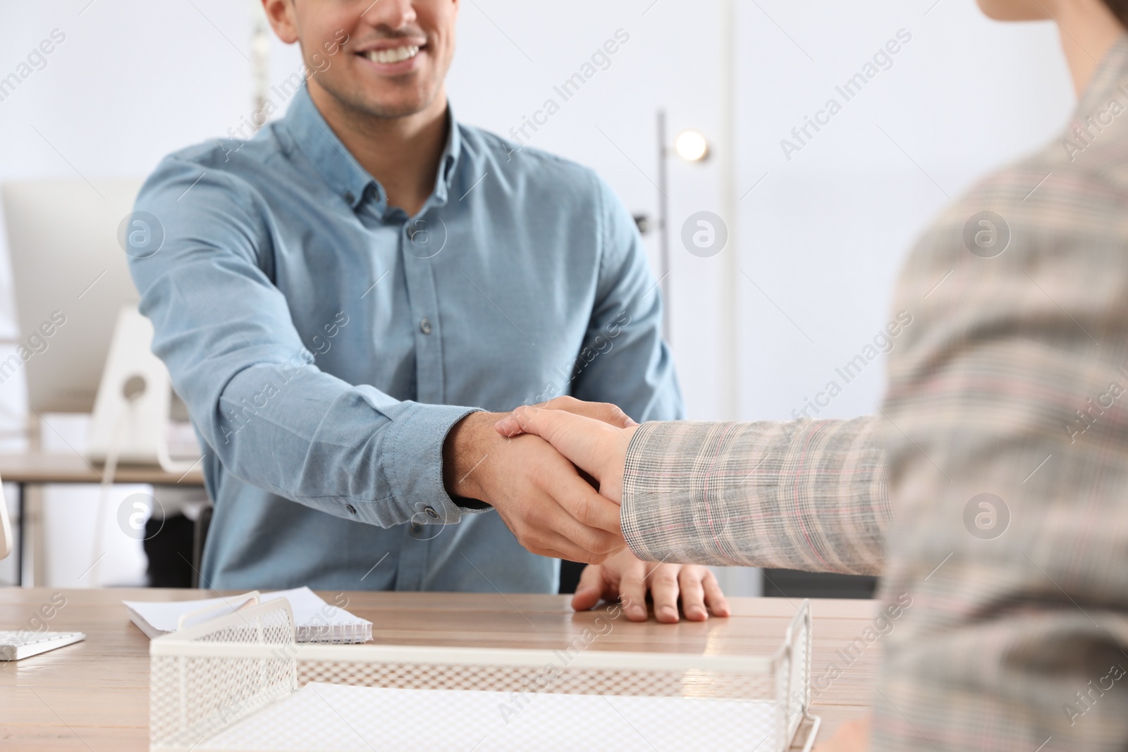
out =
{"type": "MultiPolygon", "coordinates": [[[[0,749],[16,752],[130,752],[149,744],[149,639],[129,621],[122,600],[205,598],[175,590],[0,590],[0,629],[34,628],[34,614],[59,593],[50,619],[56,631],[85,631],[86,642],[9,663],[0,662],[0,749]]],[[[214,595],[214,593],[212,593],[214,595]]],[[[321,593],[329,602],[336,593],[321,593]]],[[[377,643],[563,648],[599,616],[574,613],[563,595],[347,593],[349,610],[372,621],[377,643]]],[[[635,625],[618,620],[591,649],[767,654],[778,646],[795,604],[786,599],[731,599],[733,616],[704,623],[635,625]]],[[[49,609],[50,611],[50,609],[49,609]]],[[[873,619],[873,601],[812,601],[812,676],[873,619]]],[[[872,692],[880,646],[846,666],[814,713],[826,738],[862,716],[872,692]]]]}

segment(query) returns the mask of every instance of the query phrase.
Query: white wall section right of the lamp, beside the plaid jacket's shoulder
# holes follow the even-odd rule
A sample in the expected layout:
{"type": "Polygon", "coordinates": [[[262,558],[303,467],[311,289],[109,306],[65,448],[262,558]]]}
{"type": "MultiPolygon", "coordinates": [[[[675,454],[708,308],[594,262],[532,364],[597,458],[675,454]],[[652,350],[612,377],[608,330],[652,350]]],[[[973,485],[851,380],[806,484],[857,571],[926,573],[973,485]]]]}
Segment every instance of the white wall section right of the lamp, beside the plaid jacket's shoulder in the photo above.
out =
{"type": "Polygon", "coordinates": [[[1052,25],[968,0],[757,2],[741,3],[741,185],[767,177],[740,204],[740,265],[764,292],[741,275],[739,415],[790,418],[830,380],[843,393],[820,417],[861,415],[883,362],[849,383],[835,368],[890,319],[901,258],[949,197],[1064,125],[1072,86],[1052,25]],[[892,67],[846,101],[835,87],[902,28],[892,67]],[[788,161],[781,140],[831,97],[841,112],[788,161]]]}

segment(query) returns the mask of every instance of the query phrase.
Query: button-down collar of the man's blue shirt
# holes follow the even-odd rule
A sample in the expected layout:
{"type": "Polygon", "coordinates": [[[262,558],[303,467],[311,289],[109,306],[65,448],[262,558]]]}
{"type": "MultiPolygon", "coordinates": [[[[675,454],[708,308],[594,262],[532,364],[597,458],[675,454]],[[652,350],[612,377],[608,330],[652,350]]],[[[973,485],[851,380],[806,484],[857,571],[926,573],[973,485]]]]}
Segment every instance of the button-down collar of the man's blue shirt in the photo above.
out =
{"type": "MultiPolygon", "coordinates": [[[[369,186],[376,191],[378,207],[387,205],[387,193],[345,148],[337,134],[333,132],[325,117],[317,109],[303,86],[290,104],[283,118],[294,144],[314,163],[333,192],[341,196],[353,210],[363,201],[369,186]]],[[[451,183],[455,179],[455,168],[461,156],[462,140],[459,135],[458,122],[453,110],[447,105],[448,135],[442,159],[439,160],[439,172],[435,176],[434,192],[428,204],[442,206],[447,203],[451,183]]]]}

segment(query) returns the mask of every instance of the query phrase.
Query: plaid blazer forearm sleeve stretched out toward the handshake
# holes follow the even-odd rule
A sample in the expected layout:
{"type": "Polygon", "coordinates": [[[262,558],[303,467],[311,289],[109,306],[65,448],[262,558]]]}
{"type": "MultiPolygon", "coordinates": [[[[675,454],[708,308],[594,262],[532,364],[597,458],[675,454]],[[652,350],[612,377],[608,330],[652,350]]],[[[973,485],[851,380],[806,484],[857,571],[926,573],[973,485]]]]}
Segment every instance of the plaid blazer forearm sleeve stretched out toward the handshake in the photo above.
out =
{"type": "Polygon", "coordinates": [[[623,477],[627,542],[652,561],[879,574],[880,419],[645,423],[623,477]]]}

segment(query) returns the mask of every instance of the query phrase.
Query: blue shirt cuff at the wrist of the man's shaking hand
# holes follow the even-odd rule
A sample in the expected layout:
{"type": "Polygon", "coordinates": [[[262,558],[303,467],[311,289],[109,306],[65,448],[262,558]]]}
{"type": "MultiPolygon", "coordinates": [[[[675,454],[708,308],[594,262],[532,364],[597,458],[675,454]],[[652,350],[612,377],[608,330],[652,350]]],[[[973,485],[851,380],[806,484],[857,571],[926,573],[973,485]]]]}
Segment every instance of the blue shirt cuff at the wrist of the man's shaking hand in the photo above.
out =
{"type": "MultiPolygon", "coordinates": [[[[451,524],[462,514],[442,480],[442,446],[455,424],[474,407],[412,402],[398,416],[384,442],[384,468],[395,503],[404,519],[415,524],[451,524]]],[[[486,507],[490,508],[490,507],[486,507]]]]}

